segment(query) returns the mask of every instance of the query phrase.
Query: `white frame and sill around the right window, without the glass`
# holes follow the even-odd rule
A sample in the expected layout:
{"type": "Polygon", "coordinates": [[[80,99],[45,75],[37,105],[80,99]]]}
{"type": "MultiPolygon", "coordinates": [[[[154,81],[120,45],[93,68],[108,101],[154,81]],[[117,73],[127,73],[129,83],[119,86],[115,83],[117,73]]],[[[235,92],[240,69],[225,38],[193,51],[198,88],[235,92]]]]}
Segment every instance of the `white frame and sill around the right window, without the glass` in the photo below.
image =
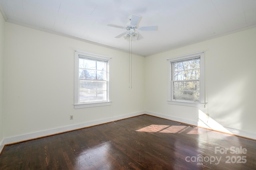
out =
{"type": "Polygon", "coordinates": [[[205,73],[204,73],[204,52],[198,52],[194,54],[174,57],[167,59],[168,63],[168,104],[181,105],[181,106],[192,106],[192,107],[205,107],[205,73]],[[199,79],[199,102],[189,100],[175,100],[173,99],[173,68],[172,63],[178,61],[186,61],[189,59],[200,58],[200,79],[199,79]]]}

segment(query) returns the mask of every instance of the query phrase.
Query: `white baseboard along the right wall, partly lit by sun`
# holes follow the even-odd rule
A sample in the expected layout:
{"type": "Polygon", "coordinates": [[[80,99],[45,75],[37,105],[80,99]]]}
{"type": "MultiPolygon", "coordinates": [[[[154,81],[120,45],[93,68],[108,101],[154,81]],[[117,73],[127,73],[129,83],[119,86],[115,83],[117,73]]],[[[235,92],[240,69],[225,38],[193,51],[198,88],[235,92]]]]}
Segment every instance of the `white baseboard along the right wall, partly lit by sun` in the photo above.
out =
{"type": "Polygon", "coordinates": [[[242,130],[239,130],[239,129],[232,129],[230,127],[223,127],[220,124],[216,125],[216,121],[214,121],[211,118],[208,119],[207,122],[203,121],[203,120],[201,120],[201,121],[192,121],[192,120],[183,119],[183,118],[180,118],[180,117],[173,117],[173,116],[170,116],[170,115],[163,115],[163,114],[160,114],[160,113],[154,113],[154,112],[150,112],[150,111],[145,111],[145,113],[148,114],[148,115],[161,117],[161,118],[164,118],[164,119],[178,121],[178,122],[185,123],[185,124],[190,124],[190,125],[194,125],[194,126],[198,126],[198,127],[212,129],[214,131],[220,131],[220,132],[223,132],[223,133],[230,133],[230,134],[233,134],[233,135],[237,135],[237,136],[246,137],[246,138],[256,140],[256,134],[254,134],[254,133],[247,132],[247,131],[242,131],[242,130]]]}

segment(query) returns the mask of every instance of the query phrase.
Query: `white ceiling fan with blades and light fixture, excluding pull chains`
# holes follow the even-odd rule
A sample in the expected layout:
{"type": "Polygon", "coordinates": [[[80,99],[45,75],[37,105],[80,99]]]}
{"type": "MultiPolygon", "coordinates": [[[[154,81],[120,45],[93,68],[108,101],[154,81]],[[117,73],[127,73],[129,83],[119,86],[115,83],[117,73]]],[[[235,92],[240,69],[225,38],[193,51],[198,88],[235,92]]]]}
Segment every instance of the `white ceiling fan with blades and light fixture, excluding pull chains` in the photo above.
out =
{"type": "Polygon", "coordinates": [[[141,16],[138,15],[130,15],[130,23],[126,26],[119,26],[119,25],[114,25],[114,24],[108,24],[110,27],[116,27],[116,28],[122,28],[126,29],[125,32],[117,35],[115,38],[120,38],[124,36],[124,39],[130,40],[130,37],[132,40],[139,40],[142,39],[143,37],[138,33],[137,31],[156,31],[157,26],[147,26],[147,27],[138,27],[138,22],[140,21],[141,16]]]}

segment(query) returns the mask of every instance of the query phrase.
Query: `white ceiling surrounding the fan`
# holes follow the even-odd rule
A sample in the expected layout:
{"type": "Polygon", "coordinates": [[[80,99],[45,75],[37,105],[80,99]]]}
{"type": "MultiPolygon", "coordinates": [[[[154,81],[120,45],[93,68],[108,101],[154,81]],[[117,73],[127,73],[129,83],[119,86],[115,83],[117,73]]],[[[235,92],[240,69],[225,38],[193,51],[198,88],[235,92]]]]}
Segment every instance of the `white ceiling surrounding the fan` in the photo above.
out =
{"type": "Polygon", "coordinates": [[[6,21],[129,50],[124,30],[130,14],[142,16],[132,52],[148,56],[190,43],[256,27],[256,0],[0,0],[6,21]]]}

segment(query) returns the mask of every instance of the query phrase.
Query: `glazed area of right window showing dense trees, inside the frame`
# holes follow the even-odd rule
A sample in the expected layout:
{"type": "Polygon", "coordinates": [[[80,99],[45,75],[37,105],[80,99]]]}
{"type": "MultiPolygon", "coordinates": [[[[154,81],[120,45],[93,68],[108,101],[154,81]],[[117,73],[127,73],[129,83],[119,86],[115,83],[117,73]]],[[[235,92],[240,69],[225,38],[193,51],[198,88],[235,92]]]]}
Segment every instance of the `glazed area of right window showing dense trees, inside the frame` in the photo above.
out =
{"type": "Polygon", "coordinates": [[[174,100],[200,100],[200,58],[172,63],[174,100]]]}

